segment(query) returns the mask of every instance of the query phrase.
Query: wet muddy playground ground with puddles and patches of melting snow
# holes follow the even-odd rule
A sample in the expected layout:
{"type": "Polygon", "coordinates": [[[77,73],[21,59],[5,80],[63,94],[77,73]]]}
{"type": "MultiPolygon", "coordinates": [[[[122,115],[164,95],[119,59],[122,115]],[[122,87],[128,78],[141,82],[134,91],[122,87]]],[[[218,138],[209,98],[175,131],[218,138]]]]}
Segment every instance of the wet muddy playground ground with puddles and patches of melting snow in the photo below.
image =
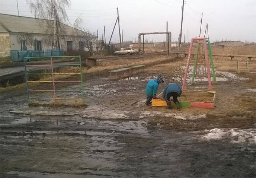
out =
{"type": "MultiPolygon", "coordinates": [[[[158,93],[182,84],[186,59],[178,60],[148,65],[132,80],[86,73],[82,107],[28,106],[25,88],[1,93],[1,177],[255,177],[255,71],[217,69],[214,109],[145,106],[153,76],[165,79],[158,93]]],[[[187,91],[207,91],[207,82],[191,85],[190,77],[187,91]]]]}

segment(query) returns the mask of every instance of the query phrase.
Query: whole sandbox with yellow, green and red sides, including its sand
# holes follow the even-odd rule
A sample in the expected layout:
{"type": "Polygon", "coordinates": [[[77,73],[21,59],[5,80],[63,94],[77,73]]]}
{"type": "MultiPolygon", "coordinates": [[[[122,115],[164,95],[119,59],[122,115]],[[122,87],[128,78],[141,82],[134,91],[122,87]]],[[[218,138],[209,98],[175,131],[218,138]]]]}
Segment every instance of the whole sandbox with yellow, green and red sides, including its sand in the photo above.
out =
{"type": "MultiPolygon", "coordinates": [[[[178,97],[180,102],[180,107],[199,107],[213,109],[215,104],[215,92],[183,92],[180,97],[178,97]]],[[[172,106],[176,106],[173,101],[171,101],[172,106]]],[[[152,99],[152,106],[167,106],[164,99],[152,99]]]]}

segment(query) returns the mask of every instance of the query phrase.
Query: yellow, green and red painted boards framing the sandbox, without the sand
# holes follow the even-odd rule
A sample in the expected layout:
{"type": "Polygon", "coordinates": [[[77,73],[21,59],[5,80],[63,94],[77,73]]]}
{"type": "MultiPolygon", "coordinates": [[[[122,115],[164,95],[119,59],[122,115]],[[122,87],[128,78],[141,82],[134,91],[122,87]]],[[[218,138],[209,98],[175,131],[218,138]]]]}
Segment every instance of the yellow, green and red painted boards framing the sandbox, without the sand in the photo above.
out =
{"type": "MultiPolygon", "coordinates": [[[[183,92],[182,95],[193,95],[193,96],[212,96],[211,101],[203,101],[203,102],[192,102],[192,101],[181,101],[180,107],[198,107],[198,108],[207,108],[207,109],[213,109],[215,105],[215,92],[208,91],[208,92],[183,92]]],[[[173,107],[176,107],[173,101],[171,101],[171,105],[173,107]]],[[[152,99],[152,106],[167,106],[167,103],[165,100],[161,99],[152,99]]]]}

